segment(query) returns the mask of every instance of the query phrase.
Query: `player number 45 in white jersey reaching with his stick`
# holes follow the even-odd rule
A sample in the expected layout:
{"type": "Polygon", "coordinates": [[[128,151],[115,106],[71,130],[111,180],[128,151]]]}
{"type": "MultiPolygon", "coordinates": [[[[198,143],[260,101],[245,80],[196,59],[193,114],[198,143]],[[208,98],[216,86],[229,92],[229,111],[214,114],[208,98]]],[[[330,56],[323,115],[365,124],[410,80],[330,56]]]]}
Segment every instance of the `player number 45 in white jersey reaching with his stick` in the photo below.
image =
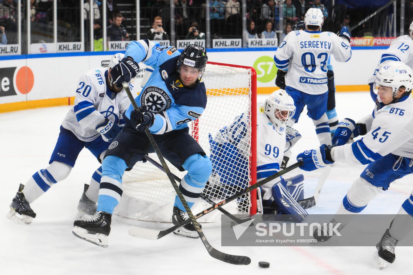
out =
{"type": "MultiPolygon", "coordinates": [[[[390,183],[413,173],[413,71],[403,62],[389,62],[377,72],[373,88],[377,94],[377,107],[373,114],[358,123],[350,119],[340,122],[333,138],[339,146],[330,150],[322,145],[297,156],[298,161],[304,161],[300,168],[306,171],[335,161],[368,164],[347,192],[336,214],[360,213],[377,194],[387,190],[390,183]],[[354,137],[364,137],[346,144],[351,133],[354,137]]],[[[408,215],[397,215],[376,246],[382,267],[387,262],[394,262],[397,242],[413,229],[413,192],[398,214],[408,215]]],[[[339,216],[332,220],[332,223],[341,223],[338,230],[348,222],[349,218],[344,220],[339,216]]],[[[319,241],[329,239],[331,236],[323,236],[325,231],[328,229],[316,230],[314,237],[319,241]]]]}

